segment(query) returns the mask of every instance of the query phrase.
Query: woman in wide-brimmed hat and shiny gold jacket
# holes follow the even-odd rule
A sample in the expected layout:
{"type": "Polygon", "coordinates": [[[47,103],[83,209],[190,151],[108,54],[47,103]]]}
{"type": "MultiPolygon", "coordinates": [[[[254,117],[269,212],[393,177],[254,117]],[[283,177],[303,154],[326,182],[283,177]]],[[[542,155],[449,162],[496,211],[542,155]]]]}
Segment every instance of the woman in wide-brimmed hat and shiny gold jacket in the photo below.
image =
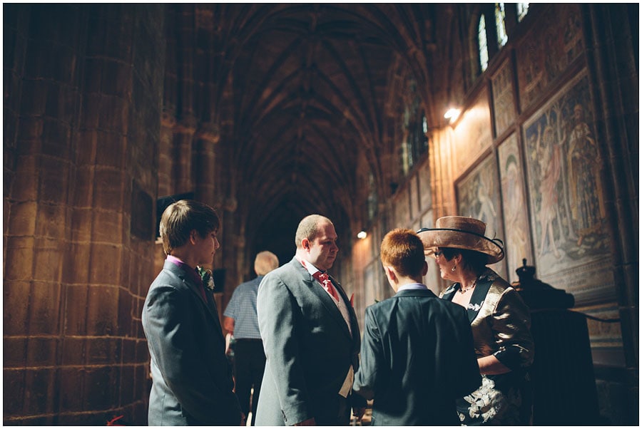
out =
{"type": "Polygon", "coordinates": [[[424,253],[434,255],[442,279],[454,282],[442,299],[464,306],[471,321],[482,382],[457,402],[459,420],[463,425],[528,425],[528,368],[534,356],[529,309],[507,281],[486,267],[504,258],[504,247],[485,232],[486,224],[478,219],[447,216],[417,234],[424,253]]]}

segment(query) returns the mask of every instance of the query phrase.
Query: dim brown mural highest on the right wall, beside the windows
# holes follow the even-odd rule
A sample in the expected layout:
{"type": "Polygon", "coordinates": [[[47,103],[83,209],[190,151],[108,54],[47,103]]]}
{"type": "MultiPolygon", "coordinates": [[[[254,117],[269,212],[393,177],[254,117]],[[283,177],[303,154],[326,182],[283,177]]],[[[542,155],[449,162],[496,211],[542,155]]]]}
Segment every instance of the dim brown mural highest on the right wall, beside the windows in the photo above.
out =
{"type": "Polygon", "coordinates": [[[541,31],[525,38],[516,51],[517,63],[523,65],[517,69],[522,110],[584,52],[578,4],[554,4],[541,22],[541,31]]]}

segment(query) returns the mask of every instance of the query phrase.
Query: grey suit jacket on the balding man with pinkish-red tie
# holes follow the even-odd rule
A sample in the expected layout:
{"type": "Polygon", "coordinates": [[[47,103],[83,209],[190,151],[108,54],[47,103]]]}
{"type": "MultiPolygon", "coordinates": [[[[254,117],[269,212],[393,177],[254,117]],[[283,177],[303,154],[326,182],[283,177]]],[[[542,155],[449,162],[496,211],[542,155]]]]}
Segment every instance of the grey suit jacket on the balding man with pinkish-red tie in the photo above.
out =
{"type": "MultiPolygon", "coordinates": [[[[347,425],[339,391],[350,365],[359,368],[360,331],[345,291],[332,279],[350,311],[352,335],[335,302],[297,259],[268,273],[258,291],[257,312],[267,362],[257,425],[347,425]]],[[[363,398],[349,398],[365,406],[363,398]]]]}

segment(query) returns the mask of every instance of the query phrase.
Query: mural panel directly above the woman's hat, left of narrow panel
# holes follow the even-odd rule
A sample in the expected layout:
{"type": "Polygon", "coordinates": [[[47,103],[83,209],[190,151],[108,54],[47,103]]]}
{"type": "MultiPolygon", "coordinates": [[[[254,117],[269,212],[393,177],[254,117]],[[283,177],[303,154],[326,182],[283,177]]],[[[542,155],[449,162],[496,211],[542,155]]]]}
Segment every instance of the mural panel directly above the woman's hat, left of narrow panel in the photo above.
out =
{"type": "MultiPolygon", "coordinates": [[[[457,214],[486,223],[486,237],[504,242],[499,180],[494,156],[486,157],[472,172],[457,183],[457,214]]],[[[506,278],[505,260],[490,266],[506,278]]]]}

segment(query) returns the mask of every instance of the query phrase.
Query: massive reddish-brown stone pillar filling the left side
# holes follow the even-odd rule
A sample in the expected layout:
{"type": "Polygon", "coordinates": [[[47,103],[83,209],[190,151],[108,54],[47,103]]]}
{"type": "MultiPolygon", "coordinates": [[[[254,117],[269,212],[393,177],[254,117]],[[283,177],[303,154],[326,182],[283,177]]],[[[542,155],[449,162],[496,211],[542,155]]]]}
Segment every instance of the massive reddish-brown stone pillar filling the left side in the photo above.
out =
{"type": "Polygon", "coordinates": [[[164,51],[163,6],[141,7],[16,6],[28,43],[6,100],[21,107],[5,199],[5,424],[146,424],[140,314],[164,51]]]}

